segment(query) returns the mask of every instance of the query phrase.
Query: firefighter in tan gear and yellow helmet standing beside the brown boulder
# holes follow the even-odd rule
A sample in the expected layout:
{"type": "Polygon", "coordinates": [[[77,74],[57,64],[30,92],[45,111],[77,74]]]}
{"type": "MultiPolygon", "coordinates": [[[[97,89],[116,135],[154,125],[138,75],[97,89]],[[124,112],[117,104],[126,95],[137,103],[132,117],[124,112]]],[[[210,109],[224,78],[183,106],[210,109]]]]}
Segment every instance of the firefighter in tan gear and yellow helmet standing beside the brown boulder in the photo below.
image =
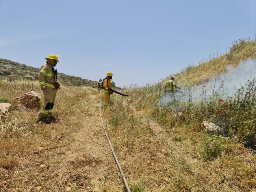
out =
{"type": "Polygon", "coordinates": [[[57,81],[58,74],[54,66],[59,62],[57,55],[49,55],[46,59],[46,65],[41,67],[39,73],[39,85],[44,94],[43,108],[39,112],[39,121],[41,122],[56,122],[56,118],[53,116],[53,107],[56,98],[56,92],[60,89],[60,85],[57,81]]]}

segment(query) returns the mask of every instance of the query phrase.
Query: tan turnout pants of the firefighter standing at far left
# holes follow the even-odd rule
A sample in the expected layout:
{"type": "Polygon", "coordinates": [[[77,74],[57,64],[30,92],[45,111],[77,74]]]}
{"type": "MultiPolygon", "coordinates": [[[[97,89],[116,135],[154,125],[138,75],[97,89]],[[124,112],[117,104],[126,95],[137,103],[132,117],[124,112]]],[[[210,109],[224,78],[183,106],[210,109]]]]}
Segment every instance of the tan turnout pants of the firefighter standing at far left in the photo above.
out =
{"type": "Polygon", "coordinates": [[[57,90],[55,88],[45,87],[44,104],[43,108],[39,112],[39,118],[44,116],[52,116],[56,92],[57,90]]]}

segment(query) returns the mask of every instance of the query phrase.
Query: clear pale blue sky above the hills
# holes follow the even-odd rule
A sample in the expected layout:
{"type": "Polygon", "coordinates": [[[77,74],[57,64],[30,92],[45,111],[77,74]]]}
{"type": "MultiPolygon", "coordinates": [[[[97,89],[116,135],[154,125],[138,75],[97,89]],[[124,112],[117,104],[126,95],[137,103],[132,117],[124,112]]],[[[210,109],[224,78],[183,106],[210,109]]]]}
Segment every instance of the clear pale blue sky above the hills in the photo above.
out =
{"type": "Polygon", "coordinates": [[[0,58],[118,86],[156,82],[254,38],[256,0],[0,0],[0,58]]]}

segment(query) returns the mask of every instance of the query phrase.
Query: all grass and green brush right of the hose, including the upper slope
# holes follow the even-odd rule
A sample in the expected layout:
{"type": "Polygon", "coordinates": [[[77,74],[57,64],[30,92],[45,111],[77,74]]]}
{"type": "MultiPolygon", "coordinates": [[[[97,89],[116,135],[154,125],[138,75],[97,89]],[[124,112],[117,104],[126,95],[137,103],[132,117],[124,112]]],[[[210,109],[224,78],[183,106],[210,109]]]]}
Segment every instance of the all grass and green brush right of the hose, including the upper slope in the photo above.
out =
{"type": "MultiPolygon", "coordinates": [[[[176,74],[187,87],[226,72],[228,65],[256,56],[256,41],[240,39],[230,51],[176,74]],[[189,85],[190,83],[190,85],[189,85]]],[[[131,86],[129,98],[114,98],[108,116],[111,137],[135,191],[256,190],[256,87],[250,79],[234,96],[219,93],[195,102],[159,106],[163,83],[131,86]],[[176,114],[182,112],[184,118],[176,114]],[[207,133],[203,121],[221,131],[207,133]],[[138,187],[139,186],[139,187],[138,187]]]]}

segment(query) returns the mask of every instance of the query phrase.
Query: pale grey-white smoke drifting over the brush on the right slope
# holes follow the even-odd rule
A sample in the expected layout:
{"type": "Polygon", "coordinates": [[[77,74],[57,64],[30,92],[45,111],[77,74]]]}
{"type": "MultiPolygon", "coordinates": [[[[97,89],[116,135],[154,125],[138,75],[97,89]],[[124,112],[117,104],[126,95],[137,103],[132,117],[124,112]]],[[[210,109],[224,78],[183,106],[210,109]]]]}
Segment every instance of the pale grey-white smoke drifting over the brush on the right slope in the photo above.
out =
{"type": "Polygon", "coordinates": [[[248,80],[256,78],[256,58],[249,58],[241,61],[237,67],[228,66],[227,73],[221,74],[217,78],[212,78],[208,82],[190,87],[190,90],[181,86],[183,94],[175,93],[171,96],[163,96],[159,99],[159,105],[167,105],[177,102],[188,102],[189,95],[192,101],[198,101],[203,97],[218,94],[221,98],[232,96],[236,88],[245,86],[248,80]]]}

